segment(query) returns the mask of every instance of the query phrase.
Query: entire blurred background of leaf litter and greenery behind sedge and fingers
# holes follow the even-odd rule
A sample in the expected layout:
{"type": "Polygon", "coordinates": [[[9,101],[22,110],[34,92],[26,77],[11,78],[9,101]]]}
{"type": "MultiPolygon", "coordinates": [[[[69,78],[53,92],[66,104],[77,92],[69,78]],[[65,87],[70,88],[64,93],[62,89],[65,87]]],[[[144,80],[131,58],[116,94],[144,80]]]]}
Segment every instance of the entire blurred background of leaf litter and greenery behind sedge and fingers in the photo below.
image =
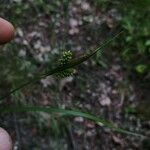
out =
{"type": "MultiPolygon", "coordinates": [[[[1,106],[78,108],[150,135],[149,0],[0,0],[0,10],[16,28],[14,40],[1,46],[2,96],[54,68],[62,51],[79,57],[124,31],[72,77],[43,79],[1,100],[1,106]]],[[[1,114],[0,125],[10,131],[16,149],[150,147],[148,139],[120,135],[82,117],[1,114]]]]}

